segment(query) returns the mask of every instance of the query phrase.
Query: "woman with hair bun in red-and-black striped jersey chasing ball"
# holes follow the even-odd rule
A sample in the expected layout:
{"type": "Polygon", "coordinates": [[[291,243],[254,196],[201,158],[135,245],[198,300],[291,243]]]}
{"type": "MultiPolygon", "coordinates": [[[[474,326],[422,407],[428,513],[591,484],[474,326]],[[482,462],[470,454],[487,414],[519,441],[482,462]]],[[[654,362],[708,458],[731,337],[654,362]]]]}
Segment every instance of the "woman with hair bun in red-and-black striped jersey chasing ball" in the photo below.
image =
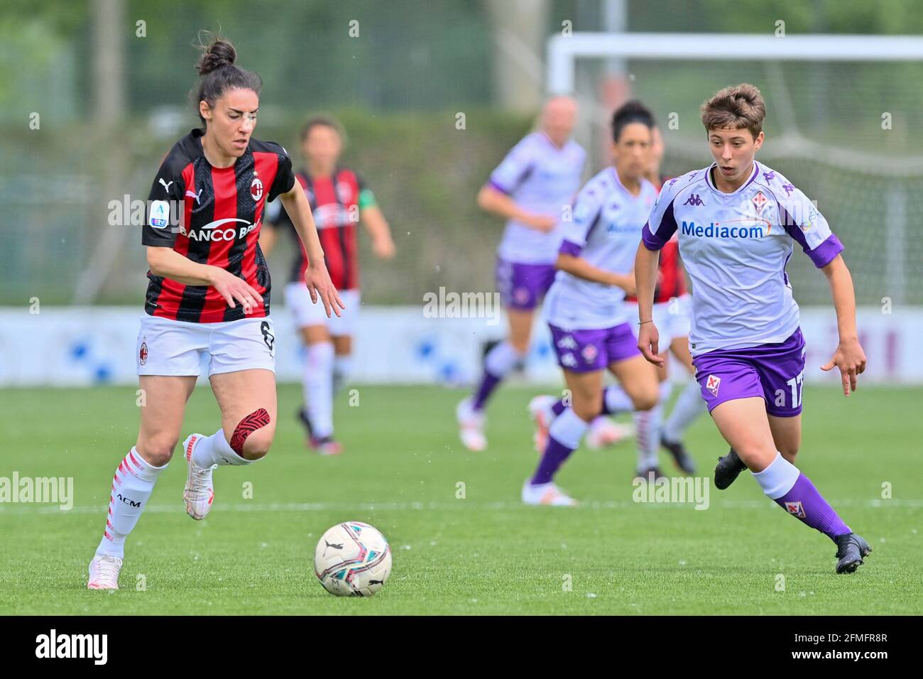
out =
{"type": "Polygon", "coordinates": [[[150,272],[147,315],[138,333],[141,425],[138,443],[115,470],[102,540],[90,562],[90,589],[117,589],[127,535],[138,523],[173,456],[186,409],[208,361],[222,428],[183,444],[186,513],[202,519],[220,465],[249,465],[275,432],[275,337],[270,273],[258,246],[263,209],[277,196],[310,253],[305,280],[326,313],[342,301],[324,268],[318,232],[288,154],[253,139],[259,77],[234,66],[234,46],[203,47],[196,103],[202,122],[180,139],[154,177],[141,242],[150,272]],[[174,213],[175,219],[171,219],[174,213]]]}

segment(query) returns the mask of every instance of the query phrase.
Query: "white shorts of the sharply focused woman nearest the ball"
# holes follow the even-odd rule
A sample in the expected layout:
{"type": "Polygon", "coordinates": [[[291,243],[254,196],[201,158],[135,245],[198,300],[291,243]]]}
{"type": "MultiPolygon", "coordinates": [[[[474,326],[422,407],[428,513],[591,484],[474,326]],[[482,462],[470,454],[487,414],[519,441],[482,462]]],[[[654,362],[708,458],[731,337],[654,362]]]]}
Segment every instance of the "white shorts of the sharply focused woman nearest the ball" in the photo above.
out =
{"type": "Polygon", "coordinates": [[[269,317],[190,323],[144,314],[135,347],[138,375],[198,377],[205,357],[209,377],[253,368],[275,372],[275,339],[269,317]]]}

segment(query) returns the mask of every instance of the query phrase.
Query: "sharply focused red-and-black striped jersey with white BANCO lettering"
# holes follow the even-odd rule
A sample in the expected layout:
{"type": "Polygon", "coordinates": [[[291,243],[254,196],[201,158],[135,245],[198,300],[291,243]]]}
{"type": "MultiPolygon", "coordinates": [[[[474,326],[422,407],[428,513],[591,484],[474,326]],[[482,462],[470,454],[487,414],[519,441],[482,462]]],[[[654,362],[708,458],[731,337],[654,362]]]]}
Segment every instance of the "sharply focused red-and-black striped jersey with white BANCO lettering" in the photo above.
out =
{"type": "Polygon", "coordinates": [[[212,167],[202,152],[203,134],[192,130],[164,158],[150,188],[141,243],[234,273],[258,290],[263,304],[245,314],[210,285],[184,285],[149,271],[144,310],[198,323],[268,316],[270,271],[259,249],[260,222],[266,202],[294,187],[292,161],[279,144],[250,139],[234,165],[212,167]]]}

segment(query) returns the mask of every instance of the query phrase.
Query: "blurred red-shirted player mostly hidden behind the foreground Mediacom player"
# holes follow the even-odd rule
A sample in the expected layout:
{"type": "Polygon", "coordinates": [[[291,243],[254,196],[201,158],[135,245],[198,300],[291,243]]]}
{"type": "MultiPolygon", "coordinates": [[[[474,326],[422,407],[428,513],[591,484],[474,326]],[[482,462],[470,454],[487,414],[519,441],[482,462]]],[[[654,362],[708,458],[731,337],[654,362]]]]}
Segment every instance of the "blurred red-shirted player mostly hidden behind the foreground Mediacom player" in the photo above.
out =
{"type": "MultiPolygon", "coordinates": [[[[660,175],[660,165],[664,160],[664,137],[657,127],[653,128],[653,144],[651,146],[651,166],[647,178],[659,190],[668,176],[660,175]]],[[[627,303],[638,304],[637,297],[629,297],[627,303]]],[[[692,365],[692,355],[689,353],[689,312],[691,298],[686,290],[686,272],[682,261],[679,259],[679,241],[674,235],[664,249],[660,251],[660,265],[657,270],[657,285],[654,289],[653,315],[657,329],[661,331],[660,346],[664,348],[680,363],[686,366],[689,374],[695,377],[695,368],[692,365]]],[[[695,464],[692,461],[686,446],[683,444],[683,435],[689,425],[704,414],[706,408],[702,405],[699,383],[692,379],[677,398],[676,406],[665,425],[661,428],[660,420],[663,418],[663,406],[669,400],[672,384],[666,374],[666,364],[657,369],[660,377],[660,403],[651,410],[639,413],[636,417],[653,418],[651,427],[639,427],[640,431],[660,431],[660,441],[648,442],[650,445],[639,446],[639,450],[651,451],[650,459],[639,460],[639,469],[644,476],[653,472],[655,477],[662,475],[657,465],[656,450],[658,445],[663,446],[682,471],[687,474],[695,473],[695,464]]],[[[641,442],[643,443],[643,442],[641,442]]]]}

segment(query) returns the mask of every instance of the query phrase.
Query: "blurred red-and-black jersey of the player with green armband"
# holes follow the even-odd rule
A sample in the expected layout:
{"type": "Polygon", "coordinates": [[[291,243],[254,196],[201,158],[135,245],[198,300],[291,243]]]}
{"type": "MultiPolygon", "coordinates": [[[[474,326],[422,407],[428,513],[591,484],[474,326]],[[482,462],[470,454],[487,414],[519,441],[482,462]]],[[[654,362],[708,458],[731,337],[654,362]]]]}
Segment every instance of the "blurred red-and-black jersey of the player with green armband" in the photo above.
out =
{"type": "MultiPolygon", "coordinates": [[[[366,191],[362,178],[347,167],[338,167],[330,176],[310,176],[306,171],[295,175],[305,189],[314,222],[318,225],[320,247],[330,280],[338,290],[359,288],[359,248],[356,226],[359,224],[360,194],[366,191]]],[[[285,210],[267,224],[285,228],[294,237],[297,256],[292,262],[291,281],[304,282],[307,269],[305,246],[285,210]]]]}

